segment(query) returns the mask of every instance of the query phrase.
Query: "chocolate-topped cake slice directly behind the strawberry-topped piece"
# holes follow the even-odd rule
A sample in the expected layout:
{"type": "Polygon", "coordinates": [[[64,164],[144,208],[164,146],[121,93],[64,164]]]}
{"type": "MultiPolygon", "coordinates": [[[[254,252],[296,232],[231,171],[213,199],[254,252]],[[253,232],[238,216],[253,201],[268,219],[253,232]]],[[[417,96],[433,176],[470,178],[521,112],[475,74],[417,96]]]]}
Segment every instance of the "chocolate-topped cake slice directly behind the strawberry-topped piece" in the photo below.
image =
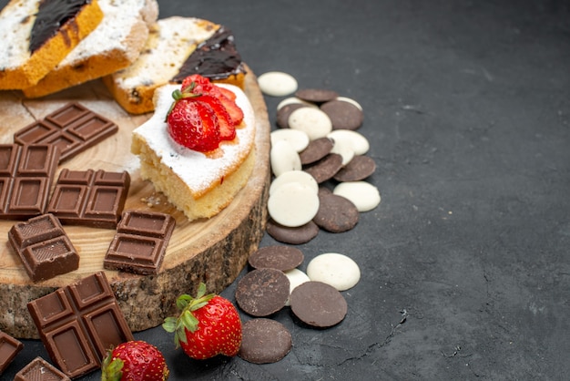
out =
{"type": "Polygon", "coordinates": [[[242,87],[245,70],[227,28],[199,18],[172,16],[158,20],[133,65],[103,80],[119,105],[142,114],[154,109],[156,88],[179,83],[190,74],[242,87]]]}

